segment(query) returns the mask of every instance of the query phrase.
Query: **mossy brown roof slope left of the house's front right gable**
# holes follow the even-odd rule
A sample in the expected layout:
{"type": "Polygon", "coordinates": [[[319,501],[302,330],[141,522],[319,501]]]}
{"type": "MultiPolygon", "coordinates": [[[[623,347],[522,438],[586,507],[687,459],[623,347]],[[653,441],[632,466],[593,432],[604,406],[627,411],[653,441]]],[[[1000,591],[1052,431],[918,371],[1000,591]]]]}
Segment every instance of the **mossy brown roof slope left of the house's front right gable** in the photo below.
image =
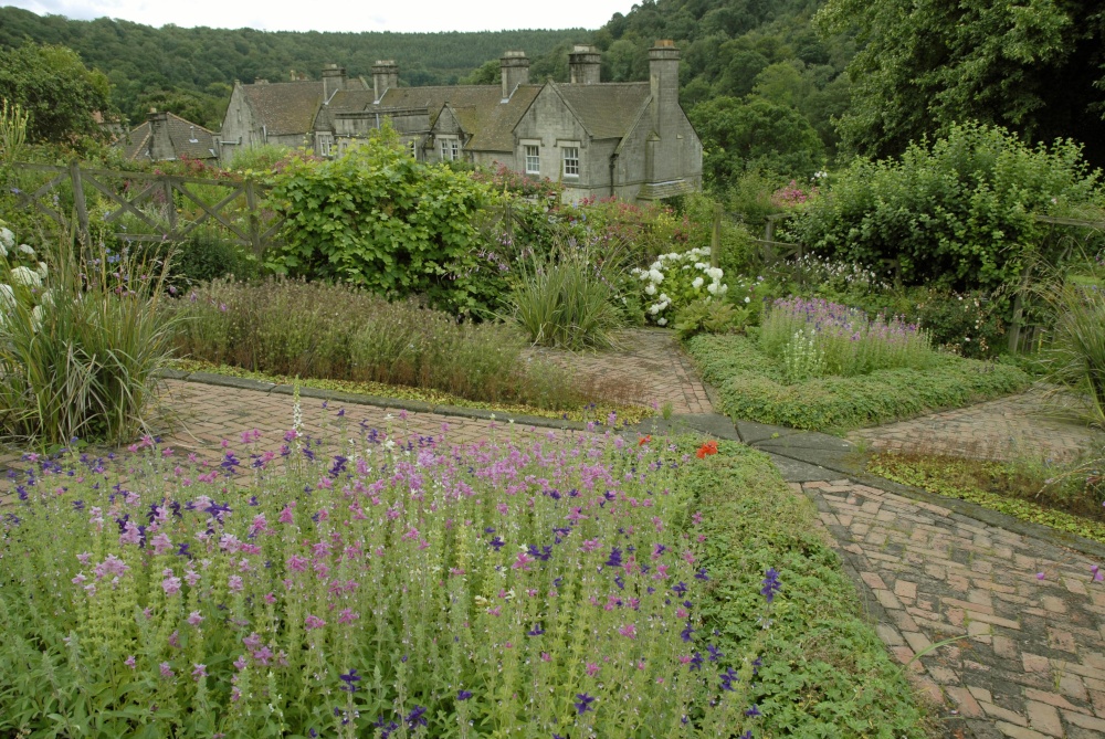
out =
{"type": "Polygon", "coordinates": [[[427,108],[431,125],[449,103],[465,133],[472,139],[469,151],[513,151],[514,127],[537,97],[543,85],[519,85],[503,103],[501,85],[448,85],[392,87],[383,94],[380,107],[427,108]]]}

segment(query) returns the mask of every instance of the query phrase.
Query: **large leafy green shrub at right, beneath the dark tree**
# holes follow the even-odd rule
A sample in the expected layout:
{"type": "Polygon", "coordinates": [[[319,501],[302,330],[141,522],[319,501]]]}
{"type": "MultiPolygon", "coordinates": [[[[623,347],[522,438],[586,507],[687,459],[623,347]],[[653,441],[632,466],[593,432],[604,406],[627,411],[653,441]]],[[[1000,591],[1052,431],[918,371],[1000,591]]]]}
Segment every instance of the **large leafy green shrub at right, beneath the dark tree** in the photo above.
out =
{"type": "Polygon", "coordinates": [[[788,228],[835,260],[876,271],[896,261],[907,285],[994,289],[1051,244],[1032,214],[1096,202],[1099,186],[1073,142],[1029,147],[1002,128],[953,125],[899,160],[856,160],[788,228]]]}

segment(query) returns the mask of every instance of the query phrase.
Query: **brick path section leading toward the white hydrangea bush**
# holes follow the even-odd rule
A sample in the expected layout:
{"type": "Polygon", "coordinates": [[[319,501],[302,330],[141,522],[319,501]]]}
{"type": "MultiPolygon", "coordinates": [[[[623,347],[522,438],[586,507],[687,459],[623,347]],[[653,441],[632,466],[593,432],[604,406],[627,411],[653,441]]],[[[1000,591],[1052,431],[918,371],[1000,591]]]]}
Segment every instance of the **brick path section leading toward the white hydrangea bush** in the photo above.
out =
{"type": "Polygon", "coordinates": [[[532,353],[569,367],[604,391],[608,397],[656,408],[665,402],[672,412],[712,413],[706,390],[691,361],[680,348],[674,332],[662,328],[619,331],[619,348],[612,351],[571,353],[533,349],[532,353]]]}

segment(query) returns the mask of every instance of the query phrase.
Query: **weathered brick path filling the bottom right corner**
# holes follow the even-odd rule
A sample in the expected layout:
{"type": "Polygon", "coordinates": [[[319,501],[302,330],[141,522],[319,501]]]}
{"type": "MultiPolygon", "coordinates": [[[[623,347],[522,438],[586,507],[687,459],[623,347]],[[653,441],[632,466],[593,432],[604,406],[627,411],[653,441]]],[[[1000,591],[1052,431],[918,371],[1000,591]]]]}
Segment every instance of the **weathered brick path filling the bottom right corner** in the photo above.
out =
{"type": "Polygon", "coordinates": [[[976,737],[1105,736],[1105,583],[1090,559],[849,481],[793,487],[817,502],[902,664],[961,637],[909,669],[976,737]]]}

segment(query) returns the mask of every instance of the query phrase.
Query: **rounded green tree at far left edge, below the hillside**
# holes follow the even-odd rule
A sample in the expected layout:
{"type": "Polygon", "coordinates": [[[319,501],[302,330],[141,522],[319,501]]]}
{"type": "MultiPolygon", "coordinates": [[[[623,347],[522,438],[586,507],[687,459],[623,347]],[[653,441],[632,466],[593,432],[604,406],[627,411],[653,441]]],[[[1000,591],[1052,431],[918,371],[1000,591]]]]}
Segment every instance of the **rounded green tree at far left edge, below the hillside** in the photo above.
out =
{"type": "Polygon", "coordinates": [[[27,43],[0,54],[0,97],[28,112],[32,142],[98,136],[95,114],[112,110],[109,93],[107,77],[72,49],[27,43]]]}

